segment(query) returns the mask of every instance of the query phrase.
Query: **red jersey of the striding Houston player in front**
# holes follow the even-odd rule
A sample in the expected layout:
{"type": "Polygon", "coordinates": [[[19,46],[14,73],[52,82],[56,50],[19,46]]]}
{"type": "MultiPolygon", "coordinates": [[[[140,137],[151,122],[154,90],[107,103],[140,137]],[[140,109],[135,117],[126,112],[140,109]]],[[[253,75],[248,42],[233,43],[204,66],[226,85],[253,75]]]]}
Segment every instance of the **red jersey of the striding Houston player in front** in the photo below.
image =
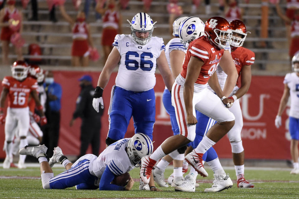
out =
{"type": "Polygon", "coordinates": [[[204,62],[201,67],[200,74],[195,83],[206,84],[210,79],[211,75],[216,71],[219,65],[220,58],[222,57],[224,49],[218,49],[214,47],[206,38],[206,36],[200,37],[193,40],[185,55],[185,60],[183,63],[183,71],[181,76],[186,78],[187,66],[191,56],[197,57],[204,62]]]}

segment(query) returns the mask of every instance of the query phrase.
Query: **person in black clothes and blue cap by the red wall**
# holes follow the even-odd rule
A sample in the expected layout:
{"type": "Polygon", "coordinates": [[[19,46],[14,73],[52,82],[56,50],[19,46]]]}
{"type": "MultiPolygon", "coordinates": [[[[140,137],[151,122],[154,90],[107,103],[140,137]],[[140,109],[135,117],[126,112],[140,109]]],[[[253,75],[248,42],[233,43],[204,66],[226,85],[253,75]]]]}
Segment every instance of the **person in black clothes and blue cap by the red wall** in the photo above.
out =
{"type": "Polygon", "coordinates": [[[69,126],[73,126],[76,118],[82,119],[81,124],[81,149],[78,157],[86,154],[88,145],[92,146],[92,153],[99,155],[100,148],[100,130],[101,130],[101,116],[103,109],[99,113],[93,108],[93,93],[95,88],[92,86],[92,77],[83,75],[80,79],[81,92],[76,101],[76,110],[73,113],[73,118],[69,126]]]}

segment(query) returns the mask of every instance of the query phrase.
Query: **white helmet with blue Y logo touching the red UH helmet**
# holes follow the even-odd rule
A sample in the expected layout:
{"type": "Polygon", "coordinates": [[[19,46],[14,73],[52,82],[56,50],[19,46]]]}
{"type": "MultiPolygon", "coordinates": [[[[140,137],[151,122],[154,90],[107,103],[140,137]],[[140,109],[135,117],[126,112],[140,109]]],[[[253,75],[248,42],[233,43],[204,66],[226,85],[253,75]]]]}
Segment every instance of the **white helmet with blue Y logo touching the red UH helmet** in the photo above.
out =
{"type": "Polygon", "coordinates": [[[205,24],[197,16],[190,16],[184,21],[182,21],[179,27],[179,38],[184,46],[188,46],[194,39],[199,38],[204,35],[205,24]]]}

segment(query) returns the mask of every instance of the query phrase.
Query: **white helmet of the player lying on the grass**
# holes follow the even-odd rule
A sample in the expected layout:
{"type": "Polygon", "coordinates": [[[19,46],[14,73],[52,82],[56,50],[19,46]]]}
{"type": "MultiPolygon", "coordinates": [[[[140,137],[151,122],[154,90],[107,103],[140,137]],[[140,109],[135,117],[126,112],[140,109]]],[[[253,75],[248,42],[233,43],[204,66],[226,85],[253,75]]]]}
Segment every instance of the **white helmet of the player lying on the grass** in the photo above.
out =
{"type": "Polygon", "coordinates": [[[136,133],[128,142],[127,153],[132,164],[140,165],[140,160],[145,155],[150,155],[154,146],[150,138],[143,133],[136,133]]]}

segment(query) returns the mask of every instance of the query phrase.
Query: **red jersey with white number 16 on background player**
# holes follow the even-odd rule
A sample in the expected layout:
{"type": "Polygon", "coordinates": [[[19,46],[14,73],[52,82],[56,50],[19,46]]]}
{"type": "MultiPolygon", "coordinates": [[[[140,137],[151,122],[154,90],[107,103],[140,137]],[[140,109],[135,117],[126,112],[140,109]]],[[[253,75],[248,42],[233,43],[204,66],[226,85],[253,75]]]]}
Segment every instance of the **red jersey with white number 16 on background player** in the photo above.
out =
{"type": "Polygon", "coordinates": [[[9,90],[8,107],[25,108],[28,107],[28,98],[32,90],[37,89],[37,81],[27,77],[24,81],[18,81],[11,76],[4,77],[2,86],[9,90]]]}

